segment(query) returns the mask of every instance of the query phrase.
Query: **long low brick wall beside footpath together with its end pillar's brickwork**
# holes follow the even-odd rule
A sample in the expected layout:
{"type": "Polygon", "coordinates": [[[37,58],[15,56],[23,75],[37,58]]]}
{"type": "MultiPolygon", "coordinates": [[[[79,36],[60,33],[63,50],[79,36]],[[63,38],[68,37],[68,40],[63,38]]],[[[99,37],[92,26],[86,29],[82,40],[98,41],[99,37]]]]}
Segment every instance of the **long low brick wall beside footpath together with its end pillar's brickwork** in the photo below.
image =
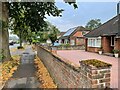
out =
{"type": "Polygon", "coordinates": [[[51,77],[59,88],[109,87],[110,72],[92,71],[92,69],[86,69],[84,65],[81,65],[81,67],[74,65],[40,46],[37,47],[37,51],[38,57],[47,67],[51,77]]]}

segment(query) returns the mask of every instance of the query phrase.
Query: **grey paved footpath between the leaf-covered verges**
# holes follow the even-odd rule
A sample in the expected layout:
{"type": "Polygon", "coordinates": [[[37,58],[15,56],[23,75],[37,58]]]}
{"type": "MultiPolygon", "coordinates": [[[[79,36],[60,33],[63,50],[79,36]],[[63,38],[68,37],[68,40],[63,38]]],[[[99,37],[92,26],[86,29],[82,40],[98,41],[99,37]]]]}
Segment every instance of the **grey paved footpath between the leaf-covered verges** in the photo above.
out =
{"type": "Polygon", "coordinates": [[[32,51],[31,46],[28,46],[21,55],[21,64],[18,70],[15,71],[13,77],[8,80],[3,90],[5,88],[38,88],[39,82],[35,77],[35,67],[34,67],[34,57],[35,53],[32,51]]]}

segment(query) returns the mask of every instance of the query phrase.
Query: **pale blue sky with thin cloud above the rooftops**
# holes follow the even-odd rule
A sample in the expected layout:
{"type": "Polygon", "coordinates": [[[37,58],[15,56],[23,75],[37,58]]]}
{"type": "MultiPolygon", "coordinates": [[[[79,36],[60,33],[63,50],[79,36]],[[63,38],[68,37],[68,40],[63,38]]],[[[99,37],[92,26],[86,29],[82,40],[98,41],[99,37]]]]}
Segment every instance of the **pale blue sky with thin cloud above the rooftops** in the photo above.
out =
{"type": "MultiPolygon", "coordinates": [[[[93,0],[95,1],[95,0],[93,0]]],[[[47,16],[47,20],[60,31],[67,31],[76,26],[85,26],[91,19],[100,19],[105,23],[117,15],[116,2],[77,2],[78,8],[64,2],[56,2],[59,9],[64,9],[62,17],[47,16]]]]}

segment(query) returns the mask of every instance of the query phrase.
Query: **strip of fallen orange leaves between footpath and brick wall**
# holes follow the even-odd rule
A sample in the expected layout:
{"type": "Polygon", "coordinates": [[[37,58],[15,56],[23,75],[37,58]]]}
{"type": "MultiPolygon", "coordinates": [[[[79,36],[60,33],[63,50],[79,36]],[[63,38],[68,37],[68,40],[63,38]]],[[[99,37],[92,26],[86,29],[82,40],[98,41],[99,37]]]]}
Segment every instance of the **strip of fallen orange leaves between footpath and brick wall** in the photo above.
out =
{"type": "Polygon", "coordinates": [[[40,82],[40,88],[57,88],[42,61],[37,57],[34,63],[37,68],[36,76],[40,82]]]}

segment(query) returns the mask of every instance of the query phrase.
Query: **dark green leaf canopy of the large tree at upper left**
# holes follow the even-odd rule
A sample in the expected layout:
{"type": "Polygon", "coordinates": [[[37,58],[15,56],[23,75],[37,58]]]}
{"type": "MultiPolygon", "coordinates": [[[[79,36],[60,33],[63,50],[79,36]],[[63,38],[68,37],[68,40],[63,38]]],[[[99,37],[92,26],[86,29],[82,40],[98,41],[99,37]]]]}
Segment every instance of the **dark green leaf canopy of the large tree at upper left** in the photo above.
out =
{"type": "Polygon", "coordinates": [[[55,6],[55,2],[11,2],[9,4],[9,16],[14,18],[17,26],[21,26],[22,23],[35,32],[46,26],[44,21],[46,14],[61,16],[62,11],[55,6]]]}

